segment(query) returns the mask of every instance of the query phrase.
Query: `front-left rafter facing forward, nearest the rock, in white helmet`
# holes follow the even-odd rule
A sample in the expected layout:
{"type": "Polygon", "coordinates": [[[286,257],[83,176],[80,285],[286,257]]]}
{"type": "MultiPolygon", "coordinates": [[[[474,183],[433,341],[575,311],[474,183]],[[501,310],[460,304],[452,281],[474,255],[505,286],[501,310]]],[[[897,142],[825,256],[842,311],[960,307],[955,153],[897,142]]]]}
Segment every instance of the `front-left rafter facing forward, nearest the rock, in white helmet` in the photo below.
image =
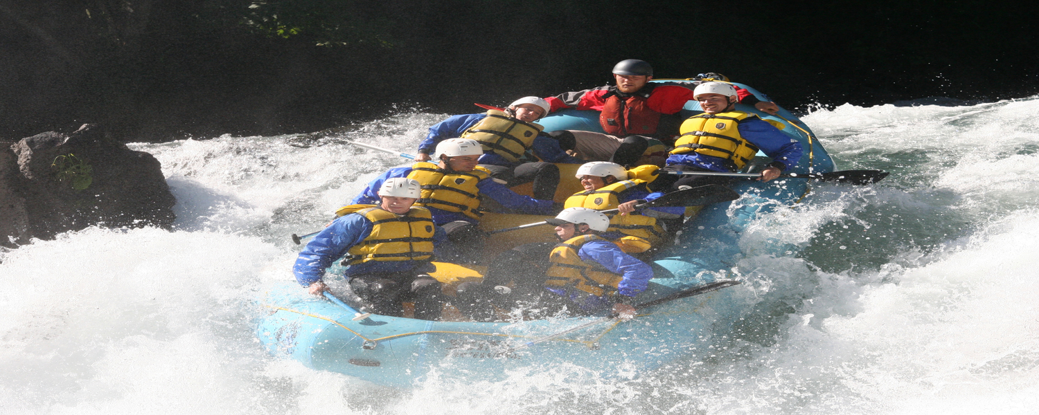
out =
{"type": "Polygon", "coordinates": [[[421,195],[418,181],[395,177],[379,186],[378,204],[353,204],[322,229],[299,252],[292,272],[315,296],[328,290],[325,269],[346,255],[344,276],[361,299],[364,311],[400,316],[401,303],[415,302],[415,317],[441,316],[444,294],[439,281],[427,273],[433,248],[445,241],[429,210],[415,206],[421,195]]]}

